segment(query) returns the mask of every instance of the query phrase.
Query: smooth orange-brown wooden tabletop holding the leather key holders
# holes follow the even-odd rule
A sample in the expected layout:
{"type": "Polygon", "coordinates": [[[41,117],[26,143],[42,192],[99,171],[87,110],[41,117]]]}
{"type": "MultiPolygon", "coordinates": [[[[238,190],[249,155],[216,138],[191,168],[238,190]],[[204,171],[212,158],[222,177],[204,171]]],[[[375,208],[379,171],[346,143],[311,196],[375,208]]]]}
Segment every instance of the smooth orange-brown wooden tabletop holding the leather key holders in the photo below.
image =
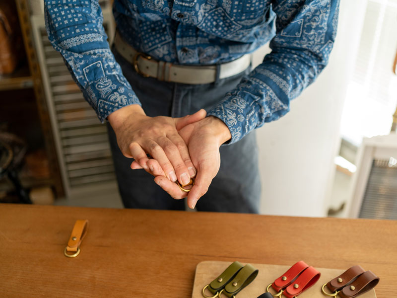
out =
{"type": "Polygon", "coordinates": [[[190,298],[201,261],[304,260],[360,264],[381,278],[378,298],[394,298],[396,234],[396,221],[0,204],[0,297],[190,298]],[[76,219],[90,225],[70,259],[76,219]]]}

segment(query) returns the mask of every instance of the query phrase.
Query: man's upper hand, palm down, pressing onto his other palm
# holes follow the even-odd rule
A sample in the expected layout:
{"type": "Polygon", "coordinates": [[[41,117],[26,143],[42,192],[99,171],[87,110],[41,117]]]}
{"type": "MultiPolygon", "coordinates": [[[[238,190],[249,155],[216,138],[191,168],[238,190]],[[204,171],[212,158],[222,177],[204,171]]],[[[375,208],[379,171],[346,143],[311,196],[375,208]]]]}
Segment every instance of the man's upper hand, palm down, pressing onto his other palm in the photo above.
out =
{"type": "Polygon", "coordinates": [[[139,105],[130,105],[110,114],[108,120],[124,156],[134,158],[138,167],[155,176],[186,184],[196,169],[178,130],[204,117],[205,110],[183,118],[148,117],[139,105]],[[148,164],[146,154],[156,162],[148,164]]]}

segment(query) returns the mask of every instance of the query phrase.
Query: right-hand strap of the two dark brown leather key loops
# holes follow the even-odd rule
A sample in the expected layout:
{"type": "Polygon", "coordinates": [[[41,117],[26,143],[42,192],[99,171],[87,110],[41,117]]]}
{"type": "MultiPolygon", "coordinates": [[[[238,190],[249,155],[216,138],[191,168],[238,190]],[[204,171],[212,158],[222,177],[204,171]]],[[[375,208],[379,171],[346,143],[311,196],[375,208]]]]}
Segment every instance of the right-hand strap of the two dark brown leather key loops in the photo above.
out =
{"type": "Polygon", "coordinates": [[[372,271],[365,271],[349,286],[344,287],[340,292],[341,298],[354,298],[372,290],[379,283],[377,277],[372,271]]]}

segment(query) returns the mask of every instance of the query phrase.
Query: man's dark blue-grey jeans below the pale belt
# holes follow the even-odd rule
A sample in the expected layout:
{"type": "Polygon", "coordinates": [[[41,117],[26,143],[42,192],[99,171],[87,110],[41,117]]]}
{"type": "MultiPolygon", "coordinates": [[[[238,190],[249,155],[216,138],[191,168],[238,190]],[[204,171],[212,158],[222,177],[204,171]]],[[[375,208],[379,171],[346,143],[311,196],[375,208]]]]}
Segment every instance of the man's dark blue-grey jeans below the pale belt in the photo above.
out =
{"type": "MultiPolygon", "coordinates": [[[[158,81],[137,74],[116,50],[114,55],[131,83],[146,115],[183,117],[199,109],[209,110],[232,90],[249,70],[210,84],[188,85],[158,81]]],[[[143,169],[132,170],[132,159],[125,157],[108,124],[120,194],[126,208],[185,210],[184,200],[171,198],[143,169]]],[[[255,133],[239,142],[221,146],[221,164],[208,192],[198,201],[198,211],[258,213],[261,183],[255,133]]]]}

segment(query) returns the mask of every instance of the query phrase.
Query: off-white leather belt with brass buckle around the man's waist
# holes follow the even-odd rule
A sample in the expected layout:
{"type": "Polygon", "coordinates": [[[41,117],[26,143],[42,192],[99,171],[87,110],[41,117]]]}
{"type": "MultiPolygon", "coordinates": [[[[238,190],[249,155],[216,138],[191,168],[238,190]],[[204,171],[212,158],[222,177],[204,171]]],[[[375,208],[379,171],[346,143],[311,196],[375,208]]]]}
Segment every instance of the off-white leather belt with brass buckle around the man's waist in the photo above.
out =
{"type": "MultiPolygon", "coordinates": [[[[114,39],[116,50],[130,62],[136,72],[145,77],[182,84],[207,84],[216,80],[216,65],[188,66],[175,65],[169,62],[156,61],[150,56],[137,52],[123,40],[118,32],[114,39]]],[[[251,54],[246,54],[232,62],[219,65],[219,78],[240,74],[251,64],[251,54]]]]}

